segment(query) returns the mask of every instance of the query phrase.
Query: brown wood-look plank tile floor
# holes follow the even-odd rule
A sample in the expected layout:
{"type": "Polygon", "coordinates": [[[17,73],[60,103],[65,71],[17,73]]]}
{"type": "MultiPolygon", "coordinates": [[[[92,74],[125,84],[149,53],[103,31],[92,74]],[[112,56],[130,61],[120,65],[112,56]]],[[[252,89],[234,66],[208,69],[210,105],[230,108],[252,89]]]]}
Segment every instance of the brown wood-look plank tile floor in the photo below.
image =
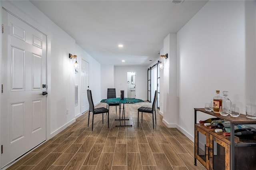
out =
{"type": "MultiPolygon", "coordinates": [[[[126,121],[132,127],[116,127],[119,113],[110,107],[107,117],[92,114],[90,125],[88,112],[59,134],[32,150],[8,170],[201,170],[199,162],[194,166],[194,143],[176,128],[167,128],[157,111],[157,125],[153,130],[152,114],[138,111],[151,103],[126,104],[126,121]]],[[[96,107],[106,107],[100,103],[96,107]]]]}

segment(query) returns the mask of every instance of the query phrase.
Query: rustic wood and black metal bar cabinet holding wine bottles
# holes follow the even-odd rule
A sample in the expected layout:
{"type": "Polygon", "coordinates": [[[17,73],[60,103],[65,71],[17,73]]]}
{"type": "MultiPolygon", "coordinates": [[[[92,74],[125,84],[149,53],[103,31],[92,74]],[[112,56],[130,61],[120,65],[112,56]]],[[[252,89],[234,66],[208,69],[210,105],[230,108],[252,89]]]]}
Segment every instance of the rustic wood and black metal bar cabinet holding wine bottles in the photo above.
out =
{"type": "Polygon", "coordinates": [[[256,125],[255,119],[248,119],[240,114],[238,118],[222,116],[204,108],[194,108],[194,164],[198,160],[207,169],[255,169],[256,168],[256,136],[234,136],[234,125],[256,125]],[[202,112],[220,119],[230,121],[230,136],[197,122],[197,112],[202,112]],[[200,139],[202,138],[202,139],[200,139]]]}

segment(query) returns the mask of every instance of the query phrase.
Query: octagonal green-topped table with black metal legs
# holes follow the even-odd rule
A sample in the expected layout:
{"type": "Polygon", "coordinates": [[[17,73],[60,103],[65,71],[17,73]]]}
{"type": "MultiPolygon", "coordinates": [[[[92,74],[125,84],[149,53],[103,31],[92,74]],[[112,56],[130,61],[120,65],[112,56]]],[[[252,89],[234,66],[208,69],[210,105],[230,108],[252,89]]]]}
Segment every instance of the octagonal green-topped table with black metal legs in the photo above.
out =
{"type": "Polygon", "coordinates": [[[119,119],[115,119],[116,121],[119,121],[119,125],[116,125],[116,127],[132,127],[132,125],[126,125],[126,123],[125,123],[125,121],[128,121],[129,119],[125,119],[124,104],[140,103],[140,102],[144,102],[144,100],[135,99],[135,98],[121,99],[120,97],[118,97],[118,98],[102,99],[100,102],[101,103],[108,103],[108,104],[119,103],[119,119]],[[122,104],[123,104],[123,107],[122,107],[122,104]],[[121,109],[123,109],[122,119],[121,119],[121,109]],[[121,125],[121,121],[124,121],[124,125],[121,125]]]}

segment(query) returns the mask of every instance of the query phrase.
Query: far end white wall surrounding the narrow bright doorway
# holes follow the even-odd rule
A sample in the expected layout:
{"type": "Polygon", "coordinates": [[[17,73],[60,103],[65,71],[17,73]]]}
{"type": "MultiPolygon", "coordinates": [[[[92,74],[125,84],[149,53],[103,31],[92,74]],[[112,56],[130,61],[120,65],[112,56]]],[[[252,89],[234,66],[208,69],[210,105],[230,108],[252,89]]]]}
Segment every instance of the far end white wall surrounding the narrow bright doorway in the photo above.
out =
{"type": "Polygon", "coordinates": [[[147,75],[148,68],[132,66],[114,67],[114,87],[116,88],[116,97],[120,97],[120,90],[124,90],[124,96],[127,96],[127,72],[136,72],[136,98],[147,100],[147,75]]]}

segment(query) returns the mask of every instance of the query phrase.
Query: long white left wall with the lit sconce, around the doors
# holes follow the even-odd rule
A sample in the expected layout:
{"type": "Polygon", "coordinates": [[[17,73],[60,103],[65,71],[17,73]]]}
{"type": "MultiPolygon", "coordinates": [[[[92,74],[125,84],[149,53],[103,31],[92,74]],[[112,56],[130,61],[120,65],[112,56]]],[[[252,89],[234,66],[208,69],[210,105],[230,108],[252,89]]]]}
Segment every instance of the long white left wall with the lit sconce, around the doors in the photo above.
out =
{"type": "MultiPolygon", "coordinates": [[[[75,115],[80,113],[80,105],[74,106],[74,85],[80,88],[80,73],[74,73],[74,59],[69,59],[68,54],[78,55],[78,63],[81,57],[89,62],[89,86],[94,103],[100,102],[100,63],[29,1],[1,1],[1,5],[47,34],[47,136],[51,138],[74,122],[75,115]]],[[[80,97],[78,100],[80,103],[80,97]]]]}

